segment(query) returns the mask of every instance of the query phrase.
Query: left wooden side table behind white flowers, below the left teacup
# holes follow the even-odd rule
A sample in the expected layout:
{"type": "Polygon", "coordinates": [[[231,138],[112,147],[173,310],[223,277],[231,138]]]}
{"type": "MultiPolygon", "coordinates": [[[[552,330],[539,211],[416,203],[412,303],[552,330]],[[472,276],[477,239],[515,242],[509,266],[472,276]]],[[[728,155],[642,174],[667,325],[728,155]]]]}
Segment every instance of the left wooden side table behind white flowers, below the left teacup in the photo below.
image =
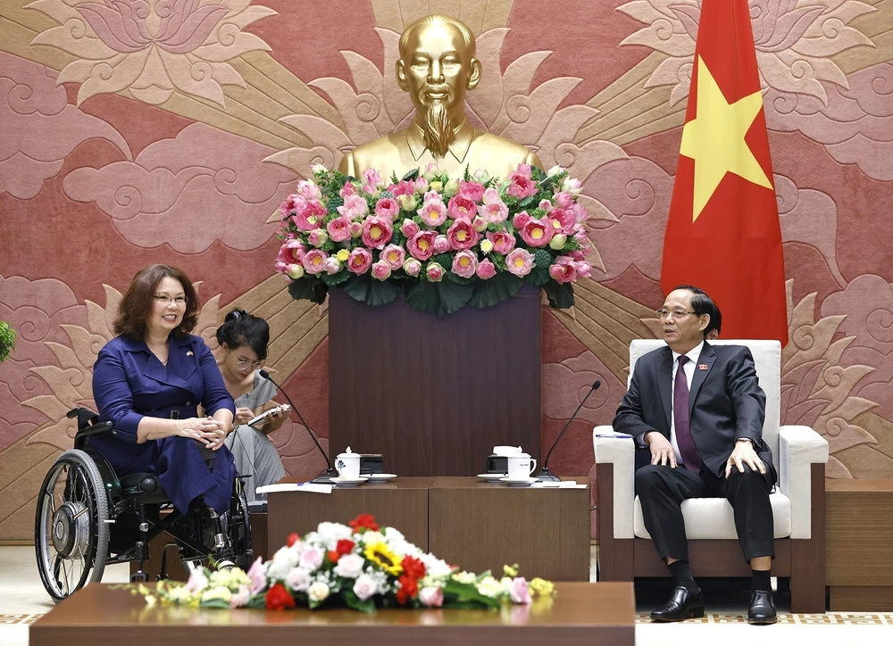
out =
{"type": "MultiPolygon", "coordinates": [[[[280,483],[297,483],[284,478],[280,483]]],[[[315,531],[322,521],[344,523],[359,514],[372,514],[380,525],[394,526],[407,541],[429,550],[428,487],[432,477],[398,477],[393,482],[335,487],[332,493],[274,492],[267,494],[267,551],[272,557],[297,532],[315,531]]]]}

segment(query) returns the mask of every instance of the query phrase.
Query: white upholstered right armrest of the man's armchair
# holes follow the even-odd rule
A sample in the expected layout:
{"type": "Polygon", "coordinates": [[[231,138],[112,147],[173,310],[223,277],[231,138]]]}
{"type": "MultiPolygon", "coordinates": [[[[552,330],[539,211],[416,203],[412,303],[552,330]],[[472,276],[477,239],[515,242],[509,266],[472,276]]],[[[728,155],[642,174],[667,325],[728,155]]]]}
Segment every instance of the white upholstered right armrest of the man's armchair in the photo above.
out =
{"type": "Polygon", "coordinates": [[[790,537],[812,538],[811,465],[828,461],[828,441],[810,427],[780,427],[779,449],[779,489],[790,499],[790,537]]]}

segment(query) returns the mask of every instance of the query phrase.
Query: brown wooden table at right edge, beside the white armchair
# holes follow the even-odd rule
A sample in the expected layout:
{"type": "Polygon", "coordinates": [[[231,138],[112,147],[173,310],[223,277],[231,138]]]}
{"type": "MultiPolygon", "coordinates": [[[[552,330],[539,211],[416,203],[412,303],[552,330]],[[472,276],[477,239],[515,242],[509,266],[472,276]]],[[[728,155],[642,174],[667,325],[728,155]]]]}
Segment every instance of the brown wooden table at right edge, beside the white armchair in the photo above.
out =
{"type": "Polygon", "coordinates": [[[825,481],[830,609],[893,611],[893,480],[825,481]]]}

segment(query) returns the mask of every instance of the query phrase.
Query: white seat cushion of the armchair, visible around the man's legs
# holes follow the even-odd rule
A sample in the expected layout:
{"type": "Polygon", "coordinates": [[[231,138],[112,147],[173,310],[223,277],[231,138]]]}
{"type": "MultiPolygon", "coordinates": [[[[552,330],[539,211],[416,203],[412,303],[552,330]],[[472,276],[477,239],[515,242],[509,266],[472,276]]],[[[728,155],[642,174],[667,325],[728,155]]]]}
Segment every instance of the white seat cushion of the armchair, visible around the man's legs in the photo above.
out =
{"type": "MultiPolygon", "coordinates": [[[[775,538],[790,535],[790,499],[783,493],[772,493],[772,516],[774,517],[775,538]]],[[[692,539],[738,538],[735,531],[735,518],[729,501],[725,498],[692,498],[682,502],[682,518],[685,518],[685,535],[692,539]]],[[[635,521],[633,523],[638,538],[651,538],[642,517],[642,503],[636,496],[635,521]]]]}

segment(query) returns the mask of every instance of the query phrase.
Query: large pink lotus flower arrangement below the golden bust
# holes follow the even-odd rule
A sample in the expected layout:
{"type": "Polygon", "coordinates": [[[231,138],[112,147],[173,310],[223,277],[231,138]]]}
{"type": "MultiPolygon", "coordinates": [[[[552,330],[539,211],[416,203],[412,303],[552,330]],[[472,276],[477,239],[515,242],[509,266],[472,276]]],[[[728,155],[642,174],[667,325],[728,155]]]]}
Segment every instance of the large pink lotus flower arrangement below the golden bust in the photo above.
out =
{"type": "Polygon", "coordinates": [[[280,205],[276,270],[293,298],[319,303],[338,286],[370,305],[404,294],[442,316],[495,305],[526,284],[568,308],[572,284],[592,270],[579,195],[580,180],[559,166],[520,164],[503,181],[429,167],[386,184],[374,169],[356,179],[317,165],[280,205]]]}

